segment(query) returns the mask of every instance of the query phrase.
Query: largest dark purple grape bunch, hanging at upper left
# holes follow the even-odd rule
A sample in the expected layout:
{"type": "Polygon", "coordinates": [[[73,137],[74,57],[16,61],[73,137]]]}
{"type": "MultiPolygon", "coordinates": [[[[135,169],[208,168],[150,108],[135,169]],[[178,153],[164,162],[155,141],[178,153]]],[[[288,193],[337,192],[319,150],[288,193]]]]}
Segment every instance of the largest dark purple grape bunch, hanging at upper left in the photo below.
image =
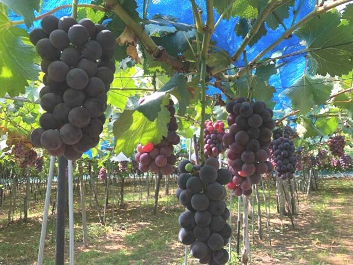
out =
{"type": "Polygon", "coordinates": [[[105,123],[107,92],[114,79],[115,36],[105,26],[83,18],[43,17],[30,40],[45,73],[40,105],[46,113],[32,131],[35,147],[68,160],[99,143],[105,123]]]}

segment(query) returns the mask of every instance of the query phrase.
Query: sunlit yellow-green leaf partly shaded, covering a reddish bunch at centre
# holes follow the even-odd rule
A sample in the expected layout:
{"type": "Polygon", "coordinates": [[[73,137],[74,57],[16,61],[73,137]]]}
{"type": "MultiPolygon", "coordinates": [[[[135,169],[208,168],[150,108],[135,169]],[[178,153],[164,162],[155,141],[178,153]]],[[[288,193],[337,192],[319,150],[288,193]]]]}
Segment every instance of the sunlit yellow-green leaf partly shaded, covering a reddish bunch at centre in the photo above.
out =
{"type": "Polygon", "coordinates": [[[115,152],[125,156],[134,153],[136,146],[153,142],[158,144],[168,134],[167,123],[170,121],[168,109],[161,106],[154,121],[150,121],[135,109],[126,109],[114,122],[115,152]]]}

